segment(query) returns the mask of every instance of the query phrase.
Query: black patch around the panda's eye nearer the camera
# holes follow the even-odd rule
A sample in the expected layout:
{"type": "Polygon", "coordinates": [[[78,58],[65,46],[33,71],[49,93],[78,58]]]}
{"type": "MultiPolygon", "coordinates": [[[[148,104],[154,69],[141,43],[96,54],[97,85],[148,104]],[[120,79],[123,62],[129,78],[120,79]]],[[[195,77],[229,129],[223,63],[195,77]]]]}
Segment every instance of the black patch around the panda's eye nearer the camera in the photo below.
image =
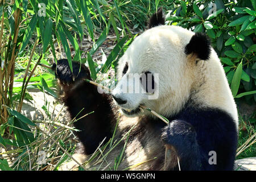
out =
{"type": "Polygon", "coordinates": [[[147,93],[154,93],[155,81],[153,74],[148,71],[144,72],[140,79],[143,89],[146,90],[147,93]]]}

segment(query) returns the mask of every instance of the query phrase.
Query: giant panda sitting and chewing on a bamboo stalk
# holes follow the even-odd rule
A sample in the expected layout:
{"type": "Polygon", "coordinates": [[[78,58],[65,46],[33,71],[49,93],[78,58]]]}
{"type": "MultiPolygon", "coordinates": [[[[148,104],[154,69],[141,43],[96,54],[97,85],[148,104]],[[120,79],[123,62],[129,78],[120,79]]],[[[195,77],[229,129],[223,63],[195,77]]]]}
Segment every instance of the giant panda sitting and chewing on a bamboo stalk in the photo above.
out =
{"type": "MultiPolygon", "coordinates": [[[[233,170],[237,108],[208,37],[164,25],[161,9],[151,16],[148,27],[119,59],[118,84],[110,94],[99,93],[97,86],[84,81],[91,80],[85,65],[73,62],[71,73],[66,59],[53,64],[71,119],[90,113],[74,123],[81,144],[73,159],[84,163],[115,131],[115,140],[121,142],[106,156],[108,163],[94,168],[113,168],[125,146],[118,169],[233,170]],[[123,92],[133,84],[133,74],[146,78],[146,84],[139,82],[144,92],[123,92]],[[156,91],[157,97],[149,99],[156,91]]],[[[61,169],[74,169],[76,162],[61,169]]]]}

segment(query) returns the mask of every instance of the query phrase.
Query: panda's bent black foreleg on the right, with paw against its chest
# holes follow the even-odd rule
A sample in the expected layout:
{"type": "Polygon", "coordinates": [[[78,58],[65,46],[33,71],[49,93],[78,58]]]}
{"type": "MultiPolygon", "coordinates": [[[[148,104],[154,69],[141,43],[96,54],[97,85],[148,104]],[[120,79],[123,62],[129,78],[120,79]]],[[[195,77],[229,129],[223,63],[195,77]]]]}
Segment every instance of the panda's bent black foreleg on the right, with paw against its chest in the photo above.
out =
{"type": "MultiPolygon", "coordinates": [[[[166,146],[174,148],[181,170],[201,170],[204,155],[196,140],[196,131],[184,121],[174,120],[164,127],[162,140],[166,146]]],[[[177,168],[177,167],[176,167],[177,168]]],[[[177,168],[178,169],[178,168],[177,168]]]]}

